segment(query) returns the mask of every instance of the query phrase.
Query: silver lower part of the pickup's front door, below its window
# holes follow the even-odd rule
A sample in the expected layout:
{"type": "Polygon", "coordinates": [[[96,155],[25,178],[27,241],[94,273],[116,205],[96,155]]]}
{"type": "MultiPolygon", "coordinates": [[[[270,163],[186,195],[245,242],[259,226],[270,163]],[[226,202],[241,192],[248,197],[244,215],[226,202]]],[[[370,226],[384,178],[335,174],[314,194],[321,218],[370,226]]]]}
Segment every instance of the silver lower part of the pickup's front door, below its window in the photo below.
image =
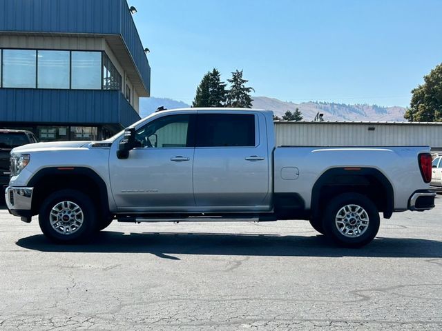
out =
{"type": "Polygon", "coordinates": [[[128,159],[111,157],[111,183],[118,208],[156,209],[195,205],[193,148],[135,148],[128,159]]]}

